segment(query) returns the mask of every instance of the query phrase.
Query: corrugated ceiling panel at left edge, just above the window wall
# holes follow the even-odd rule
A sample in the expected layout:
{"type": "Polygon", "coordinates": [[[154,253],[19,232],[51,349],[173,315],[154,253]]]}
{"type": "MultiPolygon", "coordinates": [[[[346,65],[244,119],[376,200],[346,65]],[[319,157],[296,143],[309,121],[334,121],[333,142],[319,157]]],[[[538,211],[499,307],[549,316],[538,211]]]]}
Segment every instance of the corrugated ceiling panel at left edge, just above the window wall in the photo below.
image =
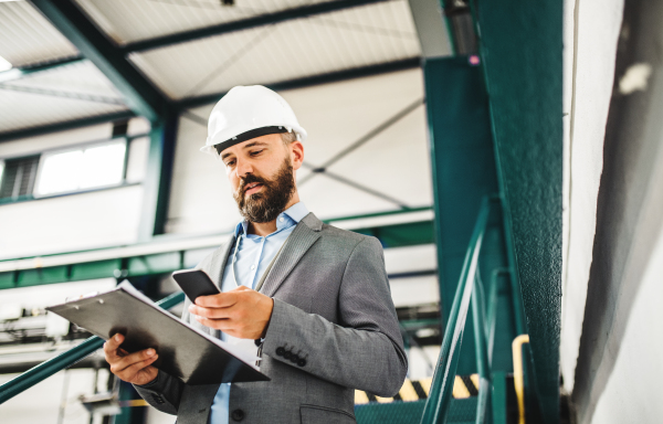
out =
{"type": "Polygon", "coordinates": [[[108,80],[88,62],[0,84],[0,131],[126,109],[108,80]]]}

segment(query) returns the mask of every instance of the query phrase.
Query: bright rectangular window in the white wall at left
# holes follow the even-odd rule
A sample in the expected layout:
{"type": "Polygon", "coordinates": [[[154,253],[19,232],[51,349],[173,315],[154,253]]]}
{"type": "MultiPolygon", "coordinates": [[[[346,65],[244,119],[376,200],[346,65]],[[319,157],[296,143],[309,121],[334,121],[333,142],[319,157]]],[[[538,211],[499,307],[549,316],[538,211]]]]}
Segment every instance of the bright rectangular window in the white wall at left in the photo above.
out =
{"type": "Polygon", "coordinates": [[[42,155],[36,197],[118,186],[124,180],[124,139],[42,155]]]}

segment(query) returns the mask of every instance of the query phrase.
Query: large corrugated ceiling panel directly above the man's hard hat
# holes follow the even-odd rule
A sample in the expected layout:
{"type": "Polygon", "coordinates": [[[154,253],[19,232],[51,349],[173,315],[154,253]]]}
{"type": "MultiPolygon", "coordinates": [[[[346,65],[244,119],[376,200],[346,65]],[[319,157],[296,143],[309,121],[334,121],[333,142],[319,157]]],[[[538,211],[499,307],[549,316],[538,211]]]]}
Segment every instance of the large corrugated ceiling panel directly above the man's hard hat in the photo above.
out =
{"type": "Polygon", "coordinates": [[[130,55],[172,98],[420,55],[407,1],[358,7],[130,55]]]}

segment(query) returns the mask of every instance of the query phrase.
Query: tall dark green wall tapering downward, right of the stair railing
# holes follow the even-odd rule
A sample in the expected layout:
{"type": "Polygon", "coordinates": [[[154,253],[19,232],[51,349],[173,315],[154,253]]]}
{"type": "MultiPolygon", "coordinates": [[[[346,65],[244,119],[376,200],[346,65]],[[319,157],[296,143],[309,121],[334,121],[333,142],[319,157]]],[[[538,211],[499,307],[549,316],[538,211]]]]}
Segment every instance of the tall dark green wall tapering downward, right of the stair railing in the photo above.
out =
{"type": "Polygon", "coordinates": [[[477,0],[474,13],[537,388],[550,423],[559,399],[562,1],[477,0]]]}

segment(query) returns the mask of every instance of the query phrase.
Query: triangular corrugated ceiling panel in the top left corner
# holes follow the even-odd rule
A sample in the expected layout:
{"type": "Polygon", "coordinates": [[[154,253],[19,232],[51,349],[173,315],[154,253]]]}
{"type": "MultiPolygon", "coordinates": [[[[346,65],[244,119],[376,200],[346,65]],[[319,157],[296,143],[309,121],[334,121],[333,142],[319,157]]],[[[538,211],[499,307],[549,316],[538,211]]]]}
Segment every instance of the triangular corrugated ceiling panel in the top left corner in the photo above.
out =
{"type": "Polygon", "coordinates": [[[32,4],[0,2],[0,56],[15,67],[78,54],[32,4]]]}

